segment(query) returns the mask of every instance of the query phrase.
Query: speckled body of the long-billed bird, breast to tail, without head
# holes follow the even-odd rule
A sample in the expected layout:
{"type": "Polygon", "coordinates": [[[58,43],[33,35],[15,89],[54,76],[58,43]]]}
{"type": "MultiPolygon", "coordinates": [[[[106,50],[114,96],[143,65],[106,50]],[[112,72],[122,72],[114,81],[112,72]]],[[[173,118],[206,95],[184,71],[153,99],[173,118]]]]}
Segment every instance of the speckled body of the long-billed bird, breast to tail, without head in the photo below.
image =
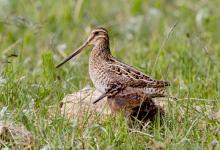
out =
{"type": "Polygon", "coordinates": [[[106,91],[109,85],[121,84],[134,89],[141,89],[152,97],[166,95],[166,86],[169,86],[169,82],[154,80],[112,56],[102,59],[97,55],[91,55],[89,64],[90,78],[95,87],[102,93],[106,91]]]}

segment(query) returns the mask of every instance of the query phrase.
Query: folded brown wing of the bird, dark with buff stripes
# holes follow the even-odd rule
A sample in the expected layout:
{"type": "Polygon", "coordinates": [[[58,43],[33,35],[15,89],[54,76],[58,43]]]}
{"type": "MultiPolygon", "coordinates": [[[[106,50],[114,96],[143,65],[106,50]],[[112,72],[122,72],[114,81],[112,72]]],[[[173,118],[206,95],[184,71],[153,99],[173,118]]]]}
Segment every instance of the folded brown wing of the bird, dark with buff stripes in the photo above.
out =
{"type": "Polygon", "coordinates": [[[138,71],[137,69],[124,64],[116,59],[111,60],[112,63],[108,64],[109,71],[114,72],[124,78],[127,78],[126,84],[130,87],[149,87],[159,88],[169,86],[170,83],[164,80],[155,80],[146,74],[138,71]]]}

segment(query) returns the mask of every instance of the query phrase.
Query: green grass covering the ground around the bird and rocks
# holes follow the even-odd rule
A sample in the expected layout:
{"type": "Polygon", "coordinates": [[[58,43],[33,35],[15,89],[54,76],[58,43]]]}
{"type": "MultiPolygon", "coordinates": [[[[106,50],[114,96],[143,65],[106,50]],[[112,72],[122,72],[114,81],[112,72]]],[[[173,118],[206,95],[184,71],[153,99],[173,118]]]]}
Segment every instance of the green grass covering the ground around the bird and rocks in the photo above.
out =
{"type": "Polygon", "coordinates": [[[220,121],[209,118],[220,109],[219,5],[218,0],[0,0],[0,120],[23,124],[34,136],[33,149],[211,149],[220,141],[220,121]],[[162,125],[132,133],[120,115],[97,115],[82,125],[60,114],[66,94],[92,85],[90,49],[62,69],[55,65],[96,26],[109,30],[115,57],[171,81],[178,100],[167,102],[162,125]]]}

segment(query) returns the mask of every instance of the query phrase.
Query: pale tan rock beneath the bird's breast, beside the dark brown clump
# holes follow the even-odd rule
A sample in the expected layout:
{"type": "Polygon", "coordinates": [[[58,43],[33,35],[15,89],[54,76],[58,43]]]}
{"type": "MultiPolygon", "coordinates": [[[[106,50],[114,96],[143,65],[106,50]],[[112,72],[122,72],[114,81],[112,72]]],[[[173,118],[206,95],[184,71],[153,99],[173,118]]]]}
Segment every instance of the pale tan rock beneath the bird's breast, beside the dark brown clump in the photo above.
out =
{"type": "Polygon", "coordinates": [[[87,86],[76,93],[69,94],[60,103],[61,113],[67,118],[74,118],[84,113],[100,113],[108,115],[111,110],[107,106],[106,98],[93,104],[96,98],[101,95],[97,90],[87,86]]]}

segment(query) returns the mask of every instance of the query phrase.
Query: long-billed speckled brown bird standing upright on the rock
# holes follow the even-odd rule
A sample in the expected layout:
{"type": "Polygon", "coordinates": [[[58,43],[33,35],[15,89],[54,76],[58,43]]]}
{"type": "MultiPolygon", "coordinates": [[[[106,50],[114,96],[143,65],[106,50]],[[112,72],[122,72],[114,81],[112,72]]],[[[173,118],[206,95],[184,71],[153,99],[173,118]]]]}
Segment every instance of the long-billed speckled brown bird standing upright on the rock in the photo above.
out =
{"type": "MultiPolygon", "coordinates": [[[[89,45],[93,47],[89,56],[90,79],[95,88],[102,93],[93,102],[94,104],[104,97],[109,100],[116,98],[117,102],[120,99],[126,100],[127,97],[128,101],[123,106],[129,107],[127,106],[129,104],[140,105],[142,97],[148,97],[143,99],[169,97],[167,87],[170,86],[170,82],[153,79],[112,56],[108,31],[103,27],[93,29],[87,40],[56,68],[61,67],[89,45]],[[123,97],[123,95],[125,96],[123,97]],[[138,103],[132,101],[138,101],[138,103]]],[[[119,106],[119,108],[121,107],[119,106]]]]}

